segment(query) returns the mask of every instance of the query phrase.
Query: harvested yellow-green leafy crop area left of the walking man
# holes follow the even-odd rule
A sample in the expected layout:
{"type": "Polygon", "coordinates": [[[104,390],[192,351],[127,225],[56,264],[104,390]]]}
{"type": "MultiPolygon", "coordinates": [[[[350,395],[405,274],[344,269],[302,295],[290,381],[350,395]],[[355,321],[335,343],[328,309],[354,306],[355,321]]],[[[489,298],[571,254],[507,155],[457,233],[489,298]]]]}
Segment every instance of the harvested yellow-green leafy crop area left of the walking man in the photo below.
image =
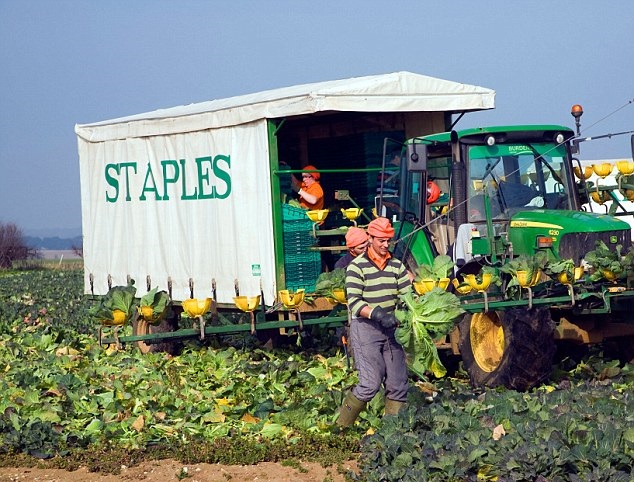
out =
{"type": "MultiPolygon", "coordinates": [[[[339,351],[192,344],[178,357],[109,353],[81,282],[68,271],[0,277],[0,452],[329,436],[355,381],[339,351]]],[[[366,416],[374,426],[379,409],[366,416]]]]}

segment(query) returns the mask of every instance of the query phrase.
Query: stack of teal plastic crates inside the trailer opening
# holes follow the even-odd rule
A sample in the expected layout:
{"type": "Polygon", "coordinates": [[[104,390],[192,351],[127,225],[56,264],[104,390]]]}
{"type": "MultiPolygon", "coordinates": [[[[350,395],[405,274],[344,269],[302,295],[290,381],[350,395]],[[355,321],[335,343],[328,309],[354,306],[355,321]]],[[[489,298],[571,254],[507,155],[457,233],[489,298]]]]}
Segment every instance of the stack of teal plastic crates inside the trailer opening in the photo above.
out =
{"type": "Polygon", "coordinates": [[[313,222],[308,219],[305,209],[283,204],[282,225],[286,289],[314,291],[315,282],[321,273],[321,253],[309,250],[315,244],[313,222]]]}

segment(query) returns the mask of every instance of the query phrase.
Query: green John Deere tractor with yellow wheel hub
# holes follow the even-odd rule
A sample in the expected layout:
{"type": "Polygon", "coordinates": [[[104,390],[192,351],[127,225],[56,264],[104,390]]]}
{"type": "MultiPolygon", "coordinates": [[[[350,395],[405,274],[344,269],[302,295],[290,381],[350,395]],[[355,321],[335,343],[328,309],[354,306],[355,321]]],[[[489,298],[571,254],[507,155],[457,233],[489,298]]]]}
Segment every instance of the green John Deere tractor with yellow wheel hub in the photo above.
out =
{"type": "Polygon", "coordinates": [[[395,253],[412,272],[447,254],[457,287],[449,289],[470,291],[459,295],[467,314],[447,345],[460,353],[474,385],[535,386],[551,373],[556,341],[610,338],[631,356],[634,291],[624,279],[601,276],[584,258],[597,246],[615,257],[628,252],[631,228],[618,217],[632,213],[620,193],[634,186],[626,175],[618,186],[588,182],[587,169],[573,157],[576,139],[559,125],[411,139],[403,149],[399,193],[377,201],[381,213],[400,221],[395,253]],[[609,214],[588,212],[596,193],[611,200],[609,214]],[[579,279],[553,270],[546,276],[547,266],[562,261],[577,268],[579,279]],[[528,279],[522,267],[533,270],[528,279]],[[499,286],[481,284],[487,271],[499,286]]]}

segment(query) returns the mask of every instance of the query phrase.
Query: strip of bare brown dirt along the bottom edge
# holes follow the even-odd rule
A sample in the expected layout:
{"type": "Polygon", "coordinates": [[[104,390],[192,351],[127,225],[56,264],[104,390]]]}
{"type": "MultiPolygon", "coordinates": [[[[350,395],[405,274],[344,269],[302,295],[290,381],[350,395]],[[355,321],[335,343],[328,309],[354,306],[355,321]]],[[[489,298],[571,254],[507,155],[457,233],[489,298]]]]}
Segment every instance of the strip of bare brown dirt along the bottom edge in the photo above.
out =
{"type": "MultiPolygon", "coordinates": [[[[342,465],[356,471],[356,462],[342,465]]],[[[264,462],[257,465],[183,465],[174,460],[146,462],[136,467],[122,467],[119,475],[102,475],[80,468],[74,472],[61,469],[0,468],[0,482],[345,482],[337,467],[299,462],[292,467],[264,462]]]]}

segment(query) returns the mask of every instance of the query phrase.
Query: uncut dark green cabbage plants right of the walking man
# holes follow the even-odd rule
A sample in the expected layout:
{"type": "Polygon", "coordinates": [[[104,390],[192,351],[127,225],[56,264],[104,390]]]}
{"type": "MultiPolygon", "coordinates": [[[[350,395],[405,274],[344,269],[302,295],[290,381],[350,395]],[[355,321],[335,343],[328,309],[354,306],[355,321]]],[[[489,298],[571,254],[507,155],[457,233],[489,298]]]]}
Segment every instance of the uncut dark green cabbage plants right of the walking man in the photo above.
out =
{"type": "Polygon", "coordinates": [[[532,393],[442,382],[435,403],[415,397],[364,441],[356,479],[634,480],[634,367],[595,359],[562,375],[532,393]]]}

